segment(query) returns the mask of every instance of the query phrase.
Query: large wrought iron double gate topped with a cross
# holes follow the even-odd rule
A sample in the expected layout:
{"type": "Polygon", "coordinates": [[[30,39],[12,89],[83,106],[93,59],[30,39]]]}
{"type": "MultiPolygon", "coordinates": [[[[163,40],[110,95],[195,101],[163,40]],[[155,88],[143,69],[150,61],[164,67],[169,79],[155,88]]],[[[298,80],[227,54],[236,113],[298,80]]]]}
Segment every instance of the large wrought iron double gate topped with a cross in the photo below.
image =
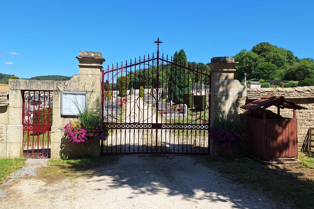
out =
{"type": "Polygon", "coordinates": [[[156,53],[103,70],[101,153],[209,154],[209,69],[154,43],[156,53]]]}

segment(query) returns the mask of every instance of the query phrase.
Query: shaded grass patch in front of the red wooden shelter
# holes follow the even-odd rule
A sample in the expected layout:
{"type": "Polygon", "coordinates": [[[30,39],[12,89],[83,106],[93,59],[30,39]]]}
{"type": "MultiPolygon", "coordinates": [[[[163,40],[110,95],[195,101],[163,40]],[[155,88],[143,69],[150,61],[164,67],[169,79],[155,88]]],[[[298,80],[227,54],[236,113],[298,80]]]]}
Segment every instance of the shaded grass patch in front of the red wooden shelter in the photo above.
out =
{"type": "MultiPolygon", "coordinates": [[[[292,208],[313,208],[314,180],[299,165],[263,165],[246,156],[196,158],[226,178],[261,191],[279,205],[284,203],[292,208]]],[[[313,169],[307,170],[313,174],[313,169]]]]}

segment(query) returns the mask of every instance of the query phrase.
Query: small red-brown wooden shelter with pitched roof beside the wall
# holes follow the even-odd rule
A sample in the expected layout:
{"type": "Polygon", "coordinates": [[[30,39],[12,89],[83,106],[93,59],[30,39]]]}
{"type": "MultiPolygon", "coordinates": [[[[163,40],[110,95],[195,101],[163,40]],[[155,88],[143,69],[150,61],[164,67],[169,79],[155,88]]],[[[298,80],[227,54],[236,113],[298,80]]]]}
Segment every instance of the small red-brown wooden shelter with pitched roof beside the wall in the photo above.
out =
{"type": "Polygon", "coordinates": [[[241,106],[250,111],[249,153],[263,160],[297,159],[296,110],[307,109],[284,97],[261,97],[241,106]],[[277,114],[266,110],[276,106],[277,114]],[[293,109],[293,118],[280,116],[280,109],[293,109]]]}

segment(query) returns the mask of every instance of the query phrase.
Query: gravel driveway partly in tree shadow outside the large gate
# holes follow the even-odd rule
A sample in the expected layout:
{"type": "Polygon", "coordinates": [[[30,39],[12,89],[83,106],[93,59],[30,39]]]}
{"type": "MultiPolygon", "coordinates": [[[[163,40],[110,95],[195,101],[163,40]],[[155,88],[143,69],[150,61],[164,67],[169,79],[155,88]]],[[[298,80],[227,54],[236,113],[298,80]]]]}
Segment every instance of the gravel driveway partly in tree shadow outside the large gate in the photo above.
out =
{"type": "Polygon", "coordinates": [[[90,173],[50,184],[21,178],[1,208],[278,208],[188,156],[127,155],[90,173]]]}

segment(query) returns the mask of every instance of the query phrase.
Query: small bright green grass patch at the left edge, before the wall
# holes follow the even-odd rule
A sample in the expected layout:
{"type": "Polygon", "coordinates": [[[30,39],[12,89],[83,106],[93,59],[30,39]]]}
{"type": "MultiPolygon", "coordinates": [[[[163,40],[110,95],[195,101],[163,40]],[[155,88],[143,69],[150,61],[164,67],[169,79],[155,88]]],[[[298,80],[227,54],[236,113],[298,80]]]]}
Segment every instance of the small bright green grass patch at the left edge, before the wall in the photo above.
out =
{"type": "Polygon", "coordinates": [[[0,182],[25,165],[26,158],[0,158],[0,182]]]}

